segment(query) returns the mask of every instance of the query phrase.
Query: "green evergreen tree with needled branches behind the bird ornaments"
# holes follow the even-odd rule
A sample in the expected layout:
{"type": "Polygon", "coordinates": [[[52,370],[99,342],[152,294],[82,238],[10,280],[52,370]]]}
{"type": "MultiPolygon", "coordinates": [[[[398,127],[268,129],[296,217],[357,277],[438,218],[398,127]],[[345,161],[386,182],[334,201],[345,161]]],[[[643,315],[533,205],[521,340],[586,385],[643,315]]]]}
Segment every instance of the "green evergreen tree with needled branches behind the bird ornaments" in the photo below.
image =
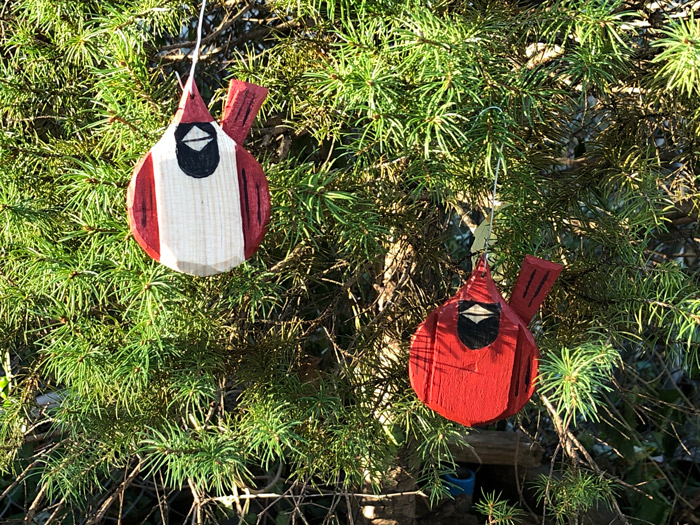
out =
{"type": "Polygon", "coordinates": [[[553,444],[545,512],[692,511],[695,7],[210,3],[197,84],[215,117],[229,78],[270,89],[246,147],[273,205],[259,252],[211,278],[149,259],[125,207],[199,4],[0,10],[0,520],[178,522],[191,493],[193,522],[313,521],[309,501],[342,521],[400,462],[441,494],[461,427],[410,389],[410,337],[469,275],[499,161],[499,288],[526,254],[565,266],[511,421],[553,444]]]}

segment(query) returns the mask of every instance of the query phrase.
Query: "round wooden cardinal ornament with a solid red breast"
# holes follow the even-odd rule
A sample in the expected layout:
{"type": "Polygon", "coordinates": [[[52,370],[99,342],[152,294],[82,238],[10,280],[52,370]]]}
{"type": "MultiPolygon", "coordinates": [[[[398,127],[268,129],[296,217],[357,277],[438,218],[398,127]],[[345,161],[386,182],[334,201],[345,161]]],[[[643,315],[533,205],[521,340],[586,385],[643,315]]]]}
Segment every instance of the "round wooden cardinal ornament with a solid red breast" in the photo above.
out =
{"type": "Polygon", "coordinates": [[[467,426],[517,413],[534,392],[540,355],[527,325],[561,270],[528,255],[508,304],[482,257],[413,336],[409,375],[420,400],[467,426]]]}

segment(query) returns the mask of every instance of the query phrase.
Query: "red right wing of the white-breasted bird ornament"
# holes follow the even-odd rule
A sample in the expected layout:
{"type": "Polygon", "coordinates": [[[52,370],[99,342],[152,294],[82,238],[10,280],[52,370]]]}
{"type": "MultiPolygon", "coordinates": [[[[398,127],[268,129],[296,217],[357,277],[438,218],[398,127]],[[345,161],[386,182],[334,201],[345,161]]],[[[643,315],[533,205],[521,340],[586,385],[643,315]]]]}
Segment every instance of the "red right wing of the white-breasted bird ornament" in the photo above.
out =
{"type": "Polygon", "coordinates": [[[267,232],[270,221],[270,190],[258,161],[240,146],[236,147],[236,164],[238,189],[241,194],[245,258],[248,259],[260,247],[267,232]]]}

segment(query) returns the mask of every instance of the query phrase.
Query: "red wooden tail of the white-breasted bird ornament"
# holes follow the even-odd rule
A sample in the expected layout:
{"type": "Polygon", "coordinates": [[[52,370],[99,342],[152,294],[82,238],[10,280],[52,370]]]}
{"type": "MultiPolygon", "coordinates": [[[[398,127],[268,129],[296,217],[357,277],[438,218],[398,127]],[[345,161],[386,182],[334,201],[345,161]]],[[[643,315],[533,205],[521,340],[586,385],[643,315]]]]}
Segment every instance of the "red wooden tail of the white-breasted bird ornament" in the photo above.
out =
{"type": "Polygon", "coordinates": [[[236,144],[243,144],[248,136],[265,97],[267,88],[241,80],[231,80],[224,114],[221,117],[221,127],[236,144]]]}

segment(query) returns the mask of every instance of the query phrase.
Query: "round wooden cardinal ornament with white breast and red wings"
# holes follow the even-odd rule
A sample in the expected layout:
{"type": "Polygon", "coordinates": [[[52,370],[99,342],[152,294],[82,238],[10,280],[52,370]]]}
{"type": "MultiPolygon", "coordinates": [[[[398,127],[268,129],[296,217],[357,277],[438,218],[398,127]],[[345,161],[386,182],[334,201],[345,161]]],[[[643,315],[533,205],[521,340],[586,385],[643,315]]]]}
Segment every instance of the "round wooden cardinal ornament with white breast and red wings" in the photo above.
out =
{"type": "Polygon", "coordinates": [[[190,76],[175,118],[134,169],[127,192],[131,232],[155,260],[206,276],[258,249],[270,192],[242,143],[266,96],[266,88],[232,80],[219,126],[190,76]]]}

